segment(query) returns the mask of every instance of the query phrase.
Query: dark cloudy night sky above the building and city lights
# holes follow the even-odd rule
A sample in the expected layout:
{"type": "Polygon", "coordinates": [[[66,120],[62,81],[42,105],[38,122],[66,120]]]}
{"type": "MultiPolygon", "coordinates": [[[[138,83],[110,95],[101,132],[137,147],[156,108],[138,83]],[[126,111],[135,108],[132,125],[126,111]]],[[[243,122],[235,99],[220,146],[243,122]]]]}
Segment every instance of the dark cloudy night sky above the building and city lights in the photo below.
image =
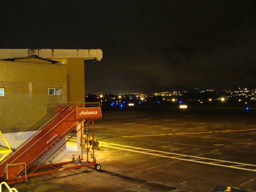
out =
{"type": "Polygon", "coordinates": [[[0,48],[102,49],[86,92],[256,88],[256,1],[1,1],[0,48]]]}

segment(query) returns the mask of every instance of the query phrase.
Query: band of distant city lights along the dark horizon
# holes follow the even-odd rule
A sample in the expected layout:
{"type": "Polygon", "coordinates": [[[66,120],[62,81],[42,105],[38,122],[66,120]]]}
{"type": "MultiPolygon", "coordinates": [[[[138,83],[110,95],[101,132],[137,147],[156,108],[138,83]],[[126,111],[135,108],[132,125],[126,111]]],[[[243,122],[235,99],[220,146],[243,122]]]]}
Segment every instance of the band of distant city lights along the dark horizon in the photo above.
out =
{"type": "MultiPolygon", "coordinates": [[[[1,88],[0,88],[1,90],[1,88]]],[[[160,104],[165,104],[164,101],[169,101],[169,102],[173,102],[173,104],[175,104],[175,102],[179,103],[179,105],[185,105],[189,103],[197,103],[199,104],[201,107],[203,107],[203,104],[206,104],[206,102],[214,102],[216,100],[220,101],[220,104],[224,104],[225,102],[228,101],[228,99],[230,100],[236,100],[236,102],[241,102],[243,103],[243,107],[242,106],[237,106],[239,108],[244,108],[244,109],[248,109],[250,108],[248,106],[249,103],[253,103],[256,104],[256,88],[253,89],[248,89],[248,88],[237,88],[236,90],[215,90],[215,89],[207,89],[207,90],[198,90],[198,88],[196,88],[197,93],[198,94],[202,94],[202,95],[198,95],[198,98],[195,98],[193,95],[193,92],[189,92],[189,91],[166,91],[166,92],[157,92],[157,93],[118,93],[118,94],[109,94],[109,93],[90,93],[88,95],[86,95],[86,99],[88,99],[88,101],[90,100],[95,100],[97,102],[100,102],[101,104],[103,104],[103,106],[110,106],[111,108],[115,108],[116,106],[119,107],[119,109],[125,108],[125,106],[128,106],[129,103],[133,103],[134,106],[139,105],[139,104],[143,104],[144,102],[147,103],[147,100],[153,100],[156,99],[157,97],[161,97],[162,99],[157,99],[155,100],[155,104],[159,105],[160,104]],[[207,94],[204,95],[204,93],[209,93],[209,92],[214,92],[215,96],[213,95],[209,95],[207,97],[207,94]],[[216,97],[217,95],[221,95],[221,97],[216,97]],[[137,100],[138,99],[138,100],[137,100]],[[128,100],[128,102],[127,102],[128,100]],[[136,102],[135,102],[136,100],[136,102]],[[106,105],[104,102],[110,102],[108,105],[106,105]],[[185,103],[185,104],[184,104],[185,103]]],[[[0,92],[1,93],[1,92],[0,92]]],[[[1,97],[1,95],[0,95],[1,97]]],[[[130,104],[131,106],[131,104],[130,104]]],[[[233,102],[230,102],[230,106],[235,106],[235,104],[233,102]]],[[[178,106],[179,108],[179,106],[178,106]]],[[[181,106],[181,108],[184,108],[181,106]]]]}

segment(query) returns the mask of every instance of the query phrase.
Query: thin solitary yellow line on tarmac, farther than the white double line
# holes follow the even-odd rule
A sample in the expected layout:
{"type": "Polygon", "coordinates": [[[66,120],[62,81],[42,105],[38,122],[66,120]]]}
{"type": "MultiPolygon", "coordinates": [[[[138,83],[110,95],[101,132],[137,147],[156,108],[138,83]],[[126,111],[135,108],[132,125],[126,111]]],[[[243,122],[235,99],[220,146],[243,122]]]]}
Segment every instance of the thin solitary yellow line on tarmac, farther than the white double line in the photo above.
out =
{"type": "Polygon", "coordinates": [[[151,137],[151,136],[170,136],[170,135],[186,135],[186,134],[205,134],[214,132],[239,132],[239,131],[256,131],[256,129],[238,129],[238,130],[225,130],[225,131],[205,131],[205,132],[178,132],[178,133],[167,133],[167,134],[145,134],[145,135],[131,135],[121,136],[122,138],[140,138],[140,137],[151,137]]]}

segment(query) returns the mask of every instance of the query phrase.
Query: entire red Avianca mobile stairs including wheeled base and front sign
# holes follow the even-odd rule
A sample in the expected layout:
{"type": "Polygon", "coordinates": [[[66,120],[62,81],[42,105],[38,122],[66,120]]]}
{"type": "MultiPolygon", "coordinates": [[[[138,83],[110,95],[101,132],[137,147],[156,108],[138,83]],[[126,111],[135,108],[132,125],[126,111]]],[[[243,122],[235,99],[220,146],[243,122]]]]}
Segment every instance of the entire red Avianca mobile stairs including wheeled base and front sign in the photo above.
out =
{"type": "Polygon", "coordinates": [[[31,136],[29,140],[20,145],[15,152],[3,159],[0,164],[1,180],[6,180],[8,184],[13,184],[24,182],[28,180],[29,177],[84,166],[95,166],[96,170],[100,170],[100,165],[96,163],[94,157],[93,147],[93,154],[91,154],[93,161],[89,161],[88,159],[89,150],[86,150],[86,161],[83,159],[83,154],[82,157],[79,156],[78,159],[72,159],[72,161],[62,163],[45,164],[45,161],[65,145],[76,132],[80,131],[88,124],[92,124],[91,134],[94,140],[93,122],[96,118],[100,118],[101,116],[99,102],[58,104],[58,114],[38,129],[38,131],[31,136]],[[65,143],[60,145],[63,138],[72,130],[76,129],[78,125],[80,125],[81,128],[72,134],[65,143]],[[56,147],[58,143],[60,147],[56,147]],[[45,157],[45,155],[47,157],[45,157]],[[42,157],[44,157],[43,160],[42,157]],[[38,163],[39,161],[40,163],[38,163]]]}

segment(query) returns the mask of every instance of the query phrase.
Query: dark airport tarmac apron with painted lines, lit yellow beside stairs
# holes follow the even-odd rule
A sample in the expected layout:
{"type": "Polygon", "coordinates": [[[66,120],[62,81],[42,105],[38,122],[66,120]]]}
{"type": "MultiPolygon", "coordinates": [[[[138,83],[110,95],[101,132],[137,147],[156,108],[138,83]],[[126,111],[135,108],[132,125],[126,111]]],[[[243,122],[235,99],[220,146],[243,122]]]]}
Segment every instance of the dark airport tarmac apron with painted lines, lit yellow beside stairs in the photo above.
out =
{"type": "MultiPolygon", "coordinates": [[[[30,184],[14,187],[18,191],[212,192],[216,186],[231,186],[246,192],[256,191],[253,167],[243,170],[238,168],[247,166],[231,163],[218,166],[221,161],[255,165],[255,113],[153,112],[115,111],[103,113],[104,118],[95,121],[95,136],[100,142],[100,149],[95,150],[97,163],[101,165],[99,172],[94,168],[56,172],[31,177],[30,184]],[[136,147],[147,151],[135,152],[136,147]],[[154,152],[150,154],[148,150],[154,152]],[[161,154],[163,151],[172,153],[172,157],[161,154]],[[187,161],[173,154],[220,161],[202,163],[195,157],[187,161]]],[[[72,154],[79,155],[76,147],[76,142],[68,142],[69,161],[72,154]]]]}

